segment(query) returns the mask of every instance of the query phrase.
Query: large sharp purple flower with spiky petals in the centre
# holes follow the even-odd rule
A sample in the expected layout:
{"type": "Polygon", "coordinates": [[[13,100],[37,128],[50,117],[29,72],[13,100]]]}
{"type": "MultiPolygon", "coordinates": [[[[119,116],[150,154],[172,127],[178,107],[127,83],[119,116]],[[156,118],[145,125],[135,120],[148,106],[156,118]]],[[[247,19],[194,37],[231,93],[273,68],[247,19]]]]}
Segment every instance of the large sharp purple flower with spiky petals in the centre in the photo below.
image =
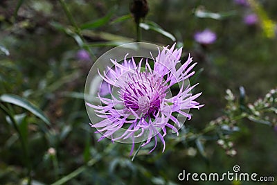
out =
{"type": "Polygon", "coordinates": [[[147,59],[144,61],[142,58],[136,63],[134,58],[127,60],[126,55],[123,64],[111,60],[114,68],[108,67],[104,75],[98,70],[99,75],[111,89],[115,88],[118,92],[111,94],[111,98],[98,95],[102,105],[87,103],[89,107],[95,109],[97,116],[103,118],[98,123],[90,124],[98,130],[97,132],[102,133],[98,141],[105,137],[110,137],[111,141],[131,139],[130,155],[132,155],[135,139],[145,136],[143,139],[145,143],[142,146],[146,146],[154,138],[156,148],[159,137],[163,143],[163,151],[165,150],[166,143],[163,137],[167,134],[166,128],[178,134],[178,129],[181,127],[177,115],[190,119],[191,116],[186,110],[204,106],[195,101],[202,93],[195,95],[191,93],[196,85],[190,87],[184,83],[184,80],[188,80],[195,73],[192,69],[196,63],[192,64],[193,58],[189,56],[188,60],[181,64],[181,51],[182,49],[175,49],[175,44],[170,49],[163,48],[156,58],[152,57],[153,68],[147,59]],[[170,87],[176,83],[181,84],[179,93],[168,98],[170,87]],[[124,127],[126,130],[122,132],[124,127]]]}

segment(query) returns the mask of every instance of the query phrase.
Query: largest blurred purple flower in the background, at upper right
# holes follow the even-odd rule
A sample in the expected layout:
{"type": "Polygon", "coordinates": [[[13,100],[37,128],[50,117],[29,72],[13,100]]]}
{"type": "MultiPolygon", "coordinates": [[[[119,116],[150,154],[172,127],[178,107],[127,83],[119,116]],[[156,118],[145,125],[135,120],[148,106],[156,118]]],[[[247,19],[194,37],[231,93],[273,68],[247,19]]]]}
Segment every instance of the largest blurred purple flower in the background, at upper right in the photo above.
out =
{"type": "Polygon", "coordinates": [[[200,44],[213,44],[216,39],[216,34],[209,29],[205,29],[202,32],[195,33],[195,41],[199,42],[200,44]]]}

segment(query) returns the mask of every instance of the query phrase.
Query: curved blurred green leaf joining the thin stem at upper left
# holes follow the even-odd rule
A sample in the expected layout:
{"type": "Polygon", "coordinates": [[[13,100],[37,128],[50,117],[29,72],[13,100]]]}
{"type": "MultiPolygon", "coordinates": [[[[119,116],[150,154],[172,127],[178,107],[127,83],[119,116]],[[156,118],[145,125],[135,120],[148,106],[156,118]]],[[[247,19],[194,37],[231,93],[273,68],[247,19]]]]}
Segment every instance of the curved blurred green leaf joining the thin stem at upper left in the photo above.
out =
{"type": "Polygon", "coordinates": [[[98,28],[100,26],[103,26],[105,24],[107,24],[107,22],[109,21],[109,19],[111,19],[111,16],[114,15],[114,12],[116,11],[117,7],[112,8],[105,17],[102,17],[100,19],[96,19],[95,21],[90,21],[88,23],[82,24],[82,26],[80,26],[81,30],[84,29],[93,29],[93,28],[98,28]]]}

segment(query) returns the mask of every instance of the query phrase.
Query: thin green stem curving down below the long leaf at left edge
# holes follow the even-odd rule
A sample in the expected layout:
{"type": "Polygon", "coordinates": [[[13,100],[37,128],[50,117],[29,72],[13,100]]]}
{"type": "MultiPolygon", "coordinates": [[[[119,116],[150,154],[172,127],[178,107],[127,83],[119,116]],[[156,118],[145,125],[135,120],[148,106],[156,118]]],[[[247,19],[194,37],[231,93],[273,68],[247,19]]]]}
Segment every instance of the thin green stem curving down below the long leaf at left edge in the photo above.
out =
{"type": "Polygon", "coordinates": [[[30,165],[30,157],[29,157],[27,143],[25,143],[25,139],[23,138],[23,136],[22,136],[22,134],[21,134],[21,132],[19,130],[19,127],[17,126],[17,121],[15,121],[15,118],[14,118],[11,110],[8,109],[7,107],[5,107],[3,104],[0,104],[0,108],[3,110],[3,112],[5,112],[9,116],[10,121],[12,121],[13,127],[15,127],[15,130],[19,134],[19,141],[21,142],[21,147],[23,149],[24,158],[26,159],[26,166],[28,168],[28,173],[27,173],[27,176],[28,176],[28,185],[30,185],[30,184],[32,184],[32,177],[31,177],[31,174],[30,174],[31,170],[32,170],[32,167],[30,165]]]}

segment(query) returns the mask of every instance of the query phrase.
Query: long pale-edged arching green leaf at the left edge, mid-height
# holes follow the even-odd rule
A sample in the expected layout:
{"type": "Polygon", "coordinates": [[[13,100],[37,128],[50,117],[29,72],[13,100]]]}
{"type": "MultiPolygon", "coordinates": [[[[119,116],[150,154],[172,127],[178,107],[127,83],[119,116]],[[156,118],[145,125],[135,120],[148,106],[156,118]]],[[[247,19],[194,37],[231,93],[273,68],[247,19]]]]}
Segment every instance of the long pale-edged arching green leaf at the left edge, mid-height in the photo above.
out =
{"type": "Polygon", "coordinates": [[[25,98],[21,98],[20,96],[14,94],[3,94],[0,96],[0,101],[3,103],[11,103],[13,105],[17,105],[19,107],[27,109],[28,111],[35,114],[35,116],[40,118],[42,121],[44,121],[47,125],[51,125],[50,121],[48,120],[48,118],[46,118],[42,110],[35,107],[35,105],[30,103],[25,98]]]}

